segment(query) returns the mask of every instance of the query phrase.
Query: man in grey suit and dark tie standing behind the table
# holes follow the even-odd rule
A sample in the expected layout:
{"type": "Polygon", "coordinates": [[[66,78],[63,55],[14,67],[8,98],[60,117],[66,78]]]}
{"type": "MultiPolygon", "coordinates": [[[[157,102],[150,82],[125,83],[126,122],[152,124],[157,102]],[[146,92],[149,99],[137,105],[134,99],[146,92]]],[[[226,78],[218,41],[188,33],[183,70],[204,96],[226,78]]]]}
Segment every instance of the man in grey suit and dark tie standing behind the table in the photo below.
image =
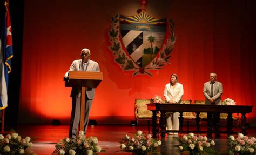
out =
{"type": "MultiPolygon", "coordinates": [[[[218,81],[217,74],[212,72],[210,73],[210,81],[204,84],[204,96],[205,104],[220,105],[221,104],[221,95],[222,95],[222,84],[218,81]]],[[[212,137],[212,125],[214,125],[215,138],[220,137],[219,132],[219,113],[207,113],[207,136],[208,138],[212,137]]]]}

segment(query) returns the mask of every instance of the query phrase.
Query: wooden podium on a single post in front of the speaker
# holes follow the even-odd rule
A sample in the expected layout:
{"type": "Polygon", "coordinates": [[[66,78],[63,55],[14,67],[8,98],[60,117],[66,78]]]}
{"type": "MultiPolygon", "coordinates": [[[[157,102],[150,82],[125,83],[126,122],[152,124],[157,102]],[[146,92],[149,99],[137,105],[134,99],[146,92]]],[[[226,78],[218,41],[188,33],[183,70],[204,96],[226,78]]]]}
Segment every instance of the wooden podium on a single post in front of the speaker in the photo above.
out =
{"type": "Polygon", "coordinates": [[[84,131],[84,109],[86,87],[96,88],[103,80],[102,72],[69,71],[69,78],[65,80],[65,87],[81,87],[80,131],[84,131]]]}

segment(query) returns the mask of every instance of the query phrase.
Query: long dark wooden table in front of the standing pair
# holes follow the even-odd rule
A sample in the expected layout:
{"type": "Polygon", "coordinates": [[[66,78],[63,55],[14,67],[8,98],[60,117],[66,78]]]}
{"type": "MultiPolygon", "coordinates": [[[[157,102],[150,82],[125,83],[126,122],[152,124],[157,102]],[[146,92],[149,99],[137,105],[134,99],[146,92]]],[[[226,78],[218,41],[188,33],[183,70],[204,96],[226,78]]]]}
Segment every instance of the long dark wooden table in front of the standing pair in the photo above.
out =
{"type": "Polygon", "coordinates": [[[228,135],[233,133],[233,113],[241,113],[241,133],[247,134],[246,126],[246,114],[252,112],[253,106],[248,105],[206,105],[206,104],[168,104],[168,103],[151,103],[147,104],[147,109],[153,112],[152,116],[152,132],[153,137],[156,137],[157,134],[157,112],[160,111],[160,133],[161,137],[165,137],[166,132],[186,132],[182,130],[183,127],[183,112],[195,112],[196,113],[196,131],[192,132],[201,132],[200,131],[200,112],[215,112],[215,113],[227,113],[227,131],[228,135]],[[166,131],[166,112],[180,112],[180,130],[179,131],[166,131]]]}

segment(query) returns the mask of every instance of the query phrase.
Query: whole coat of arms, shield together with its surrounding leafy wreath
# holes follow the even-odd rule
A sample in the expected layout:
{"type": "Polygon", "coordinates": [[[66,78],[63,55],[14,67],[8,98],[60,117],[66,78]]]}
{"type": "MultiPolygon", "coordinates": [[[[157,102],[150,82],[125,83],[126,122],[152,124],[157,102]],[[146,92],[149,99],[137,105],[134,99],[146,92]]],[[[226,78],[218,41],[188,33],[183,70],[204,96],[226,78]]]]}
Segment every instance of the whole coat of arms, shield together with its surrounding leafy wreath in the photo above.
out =
{"type": "Polygon", "coordinates": [[[116,14],[111,18],[109,30],[114,61],[133,76],[149,75],[170,64],[174,48],[174,22],[167,18],[154,18],[145,10],[135,16],[116,14]]]}

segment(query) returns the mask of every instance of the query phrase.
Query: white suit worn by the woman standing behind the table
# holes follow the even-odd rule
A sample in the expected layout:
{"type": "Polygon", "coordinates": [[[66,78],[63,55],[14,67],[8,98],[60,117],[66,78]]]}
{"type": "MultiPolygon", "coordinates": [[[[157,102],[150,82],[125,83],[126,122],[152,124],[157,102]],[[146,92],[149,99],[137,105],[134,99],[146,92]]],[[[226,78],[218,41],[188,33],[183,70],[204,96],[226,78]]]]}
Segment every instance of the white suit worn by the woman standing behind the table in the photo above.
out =
{"type": "MultiPolygon", "coordinates": [[[[180,83],[177,83],[174,89],[170,83],[165,85],[164,97],[166,102],[173,99],[176,103],[181,103],[183,93],[183,85],[180,83]]],[[[179,130],[179,112],[166,112],[166,116],[166,130],[179,130]]]]}

